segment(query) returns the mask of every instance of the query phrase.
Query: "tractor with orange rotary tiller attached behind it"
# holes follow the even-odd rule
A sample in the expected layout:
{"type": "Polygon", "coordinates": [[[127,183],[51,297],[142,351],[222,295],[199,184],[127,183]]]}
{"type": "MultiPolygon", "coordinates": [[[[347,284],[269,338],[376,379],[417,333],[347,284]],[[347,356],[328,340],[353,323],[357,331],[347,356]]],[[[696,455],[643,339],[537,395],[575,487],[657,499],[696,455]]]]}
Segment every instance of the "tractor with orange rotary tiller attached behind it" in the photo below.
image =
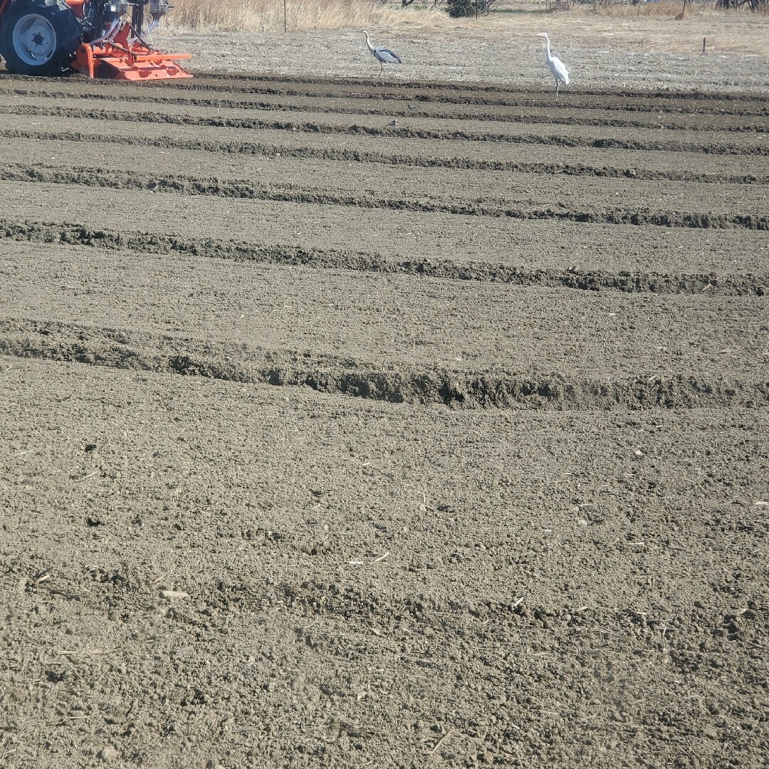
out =
{"type": "Polygon", "coordinates": [[[0,0],[0,56],[16,75],[167,80],[191,77],[151,43],[168,0],[0,0]]]}

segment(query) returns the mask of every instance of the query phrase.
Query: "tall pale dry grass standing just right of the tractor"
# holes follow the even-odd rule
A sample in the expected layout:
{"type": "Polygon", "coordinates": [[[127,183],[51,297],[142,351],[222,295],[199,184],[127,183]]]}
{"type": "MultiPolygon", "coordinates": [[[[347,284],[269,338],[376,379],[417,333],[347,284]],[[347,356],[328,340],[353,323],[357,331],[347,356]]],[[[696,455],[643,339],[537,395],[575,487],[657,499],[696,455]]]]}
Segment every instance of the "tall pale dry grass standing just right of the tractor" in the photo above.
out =
{"type": "MultiPolygon", "coordinates": [[[[287,0],[290,31],[349,27],[394,27],[411,22],[434,25],[446,14],[426,6],[401,8],[378,0],[287,0]]],[[[283,29],[282,0],[175,0],[166,17],[169,28],[195,31],[275,32],[283,29]]],[[[166,20],[164,20],[166,21],[166,20]]]]}

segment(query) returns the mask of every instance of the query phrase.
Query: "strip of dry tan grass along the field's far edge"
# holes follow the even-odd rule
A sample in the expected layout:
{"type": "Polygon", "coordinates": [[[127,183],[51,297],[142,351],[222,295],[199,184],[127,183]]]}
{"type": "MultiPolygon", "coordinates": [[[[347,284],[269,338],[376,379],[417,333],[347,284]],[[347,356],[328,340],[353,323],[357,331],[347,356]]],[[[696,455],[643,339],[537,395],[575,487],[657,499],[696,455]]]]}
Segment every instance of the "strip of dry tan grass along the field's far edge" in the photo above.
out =
{"type": "MultiPolygon", "coordinates": [[[[452,19],[432,0],[415,0],[401,8],[400,0],[287,0],[288,32],[344,30],[366,27],[379,35],[403,35],[419,30],[420,38],[440,38],[459,45],[468,38],[504,41],[534,39],[548,32],[559,50],[621,49],[631,52],[696,54],[707,37],[709,54],[769,56],[769,16],[746,11],[716,11],[714,2],[691,4],[677,19],[683,0],[613,5],[575,5],[545,12],[544,0],[501,0],[501,12],[452,19]],[[691,8],[691,12],[690,12],[691,8]]],[[[192,30],[282,32],[282,0],[175,0],[163,19],[169,31],[192,30]]],[[[415,38],[414,38],[415,39],[415,38]]],[[[392,42],[392,41],[391,41],[392,42]]]]}

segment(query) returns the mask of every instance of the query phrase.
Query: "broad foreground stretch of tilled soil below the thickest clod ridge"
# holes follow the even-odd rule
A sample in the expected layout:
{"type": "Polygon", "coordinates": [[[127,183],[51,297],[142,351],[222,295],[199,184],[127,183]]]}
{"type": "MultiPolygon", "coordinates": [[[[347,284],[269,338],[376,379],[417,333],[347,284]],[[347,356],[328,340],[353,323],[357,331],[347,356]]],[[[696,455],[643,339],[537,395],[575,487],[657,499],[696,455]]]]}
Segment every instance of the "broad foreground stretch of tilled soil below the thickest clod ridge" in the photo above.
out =
{"type": "Polygon", "coordinates": [[[762,414],[418,421],[82,368],[3,371],[42,414],[2,476],[19,766],[762,754],[762,414]]]}

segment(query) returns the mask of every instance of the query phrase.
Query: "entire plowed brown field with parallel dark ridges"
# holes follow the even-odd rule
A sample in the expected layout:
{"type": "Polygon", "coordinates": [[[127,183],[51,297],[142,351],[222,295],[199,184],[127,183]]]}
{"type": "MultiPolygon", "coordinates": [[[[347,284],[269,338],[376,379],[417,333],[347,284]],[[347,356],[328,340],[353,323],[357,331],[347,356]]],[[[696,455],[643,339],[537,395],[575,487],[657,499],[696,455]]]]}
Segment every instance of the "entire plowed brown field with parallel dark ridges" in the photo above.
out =
{"type": "Polygon", "coordinates": [[[767,126],[0,77],[0,764],[760,766],[767,126]]]}

